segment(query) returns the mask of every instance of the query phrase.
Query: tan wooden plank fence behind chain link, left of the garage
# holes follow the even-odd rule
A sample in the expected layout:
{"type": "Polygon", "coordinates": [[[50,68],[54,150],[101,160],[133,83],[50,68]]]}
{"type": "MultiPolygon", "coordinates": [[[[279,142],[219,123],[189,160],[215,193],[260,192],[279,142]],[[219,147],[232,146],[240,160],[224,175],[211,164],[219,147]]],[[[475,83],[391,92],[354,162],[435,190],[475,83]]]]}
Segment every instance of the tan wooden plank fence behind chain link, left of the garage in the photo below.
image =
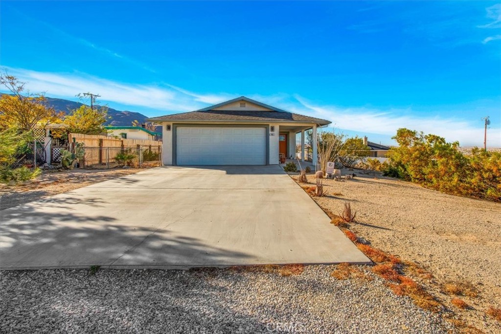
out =
{"type": "Polygon", "coordinates": [[[145,149],[159,153],[162,142],[156,140],[124,139],[102,135],[84,135],[80,133],[68,134],[70,145],[83,143],[85,158],[83,166],[103,165],[114,162],[115,156],[126,149],[141,153],[145,149]]]}

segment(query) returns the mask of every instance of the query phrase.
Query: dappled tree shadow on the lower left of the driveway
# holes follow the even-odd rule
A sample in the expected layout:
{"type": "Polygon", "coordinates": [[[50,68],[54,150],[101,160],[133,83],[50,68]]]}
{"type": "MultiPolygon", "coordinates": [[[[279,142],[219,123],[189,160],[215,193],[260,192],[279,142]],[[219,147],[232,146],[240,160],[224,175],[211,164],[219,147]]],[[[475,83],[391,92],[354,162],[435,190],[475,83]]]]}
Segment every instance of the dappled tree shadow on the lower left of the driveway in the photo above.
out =
{"type": "Polygon", "coordinates": [[[68,193],[0,211],[0,268],[203,265],[248,257],[174,235],[164,228],[168,223],[92,214],[105,204],[68,193]]]}

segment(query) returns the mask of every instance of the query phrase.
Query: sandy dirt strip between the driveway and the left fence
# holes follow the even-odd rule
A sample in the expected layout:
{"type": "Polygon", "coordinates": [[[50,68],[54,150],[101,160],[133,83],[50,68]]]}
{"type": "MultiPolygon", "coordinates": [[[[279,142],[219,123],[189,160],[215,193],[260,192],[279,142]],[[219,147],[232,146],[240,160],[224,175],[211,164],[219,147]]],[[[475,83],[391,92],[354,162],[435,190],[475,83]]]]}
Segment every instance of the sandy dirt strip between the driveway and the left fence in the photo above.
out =
{"type": "Polygon", "coordinates": [[[0,210],[29,203],[94,183],[140,172],[144,169],[74,169],[46,171],[19,186],[0,185],[0,210]]]}

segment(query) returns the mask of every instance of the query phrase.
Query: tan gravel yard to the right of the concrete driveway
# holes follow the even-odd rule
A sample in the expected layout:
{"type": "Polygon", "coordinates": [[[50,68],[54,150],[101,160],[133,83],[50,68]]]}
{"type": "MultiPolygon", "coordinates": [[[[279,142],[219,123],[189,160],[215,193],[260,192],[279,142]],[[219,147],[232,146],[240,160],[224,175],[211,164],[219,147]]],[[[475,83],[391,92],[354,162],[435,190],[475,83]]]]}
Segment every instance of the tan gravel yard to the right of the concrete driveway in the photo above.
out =
{"type": "MultiPolygon", "coordinates": [[[[501,332],[501,324],[485,315],[489,306],[501,308],[501,204],[447,195],[380,173],[343,170],[343,175],[351,173],[358,175],[346,182],[324,179],[328,195],[314,200],[333,213],[351,202],[358,223],[350,229],[430,271],[435,280],[428,287],[452,309],[442,285],[473,284],[480,296],[459,296],[471,306],[463,316],[486,332],[501,332]]],[[[308,180],[315,182],[312,175],[308,180]]]]}

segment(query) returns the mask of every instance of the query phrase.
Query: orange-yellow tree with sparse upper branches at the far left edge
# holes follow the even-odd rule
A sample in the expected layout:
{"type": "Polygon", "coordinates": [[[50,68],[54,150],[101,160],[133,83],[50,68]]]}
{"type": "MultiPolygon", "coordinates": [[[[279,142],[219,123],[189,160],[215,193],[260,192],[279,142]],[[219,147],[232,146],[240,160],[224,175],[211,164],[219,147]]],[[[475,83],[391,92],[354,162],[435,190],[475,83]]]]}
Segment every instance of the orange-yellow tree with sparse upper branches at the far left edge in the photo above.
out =
{"type": "Polygon", "coordinates": [[[11,92],[0,96],[0,128],[29,131],[37,126],[44,127],[53,123],[61,116],[45,105],[46,98],[43,94],[23,94],[26,83],[7,72],[0,76],[0,84],[11,92]]]}

